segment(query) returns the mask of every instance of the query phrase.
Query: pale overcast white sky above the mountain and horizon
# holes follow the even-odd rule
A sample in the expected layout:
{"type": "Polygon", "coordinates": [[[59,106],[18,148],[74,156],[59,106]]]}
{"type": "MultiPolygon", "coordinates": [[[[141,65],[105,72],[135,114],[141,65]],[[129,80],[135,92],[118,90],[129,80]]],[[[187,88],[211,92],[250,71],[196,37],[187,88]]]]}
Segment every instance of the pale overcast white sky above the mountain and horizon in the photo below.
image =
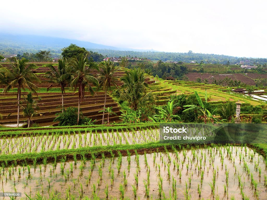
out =
{"type": "Polygon", "coordinates": [[[0,31],[266,58],[266,1],[1,1],[0,31]]]}

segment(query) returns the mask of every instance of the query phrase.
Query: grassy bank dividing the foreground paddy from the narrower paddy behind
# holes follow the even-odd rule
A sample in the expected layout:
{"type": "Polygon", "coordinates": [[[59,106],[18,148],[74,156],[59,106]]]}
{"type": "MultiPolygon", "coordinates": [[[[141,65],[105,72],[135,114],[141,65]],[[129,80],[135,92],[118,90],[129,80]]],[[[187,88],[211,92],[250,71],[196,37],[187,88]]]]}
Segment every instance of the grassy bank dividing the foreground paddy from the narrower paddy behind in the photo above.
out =
{"type": "MultiPolygon", "coordinates": [[[[202,146],[201,144],[199,144],[202,146]]],[[[214,144],[210,144],[211,146],[214,144]]],[[[220,144],[225,146],[227,144],[220,144]]],[[[238,144],[234,144],[238,145],[238,144]]],[[[183,147],[188,149],[189,147],[197,146],[197,145],[189,145],[183,144],[183,147]]],[[[209,146],[209,145],[207,145],[209,146]]],[[[109,146],[94,146],[94,147],[81,147],[77,149],[62,149],[56,151],[45,151],[40,153],[24,153],[24,154],[10,154],[10,155],[0,155],[0,164],[9,165],[11,163],[34,163],[34,162],[42,162],[45,158],[46,161],[59,161],[60,158],[66,157],[67,159],[73,159],[73,155],[77,157],[91,157],[91,155],[99,156],[101,153],[105,155],[110,154],[110,152],[117,154],[118,151],[121,153],[125,153],[126,151],[130,151],[133,153],[135,150],[138,151],[156,151],[159,148],[168,148],[171,147],[181,147],[178,144],[170,144],[170,143],[159,143],[159,142],[151,142],[146,144],[134,144],[134,145],[109,145],[109,146]]],[[[265,144],[249,144],[250,148],[253,148],[258,153],[262,154],[265,159],[267,158],[267,145],[265,144]]]]}

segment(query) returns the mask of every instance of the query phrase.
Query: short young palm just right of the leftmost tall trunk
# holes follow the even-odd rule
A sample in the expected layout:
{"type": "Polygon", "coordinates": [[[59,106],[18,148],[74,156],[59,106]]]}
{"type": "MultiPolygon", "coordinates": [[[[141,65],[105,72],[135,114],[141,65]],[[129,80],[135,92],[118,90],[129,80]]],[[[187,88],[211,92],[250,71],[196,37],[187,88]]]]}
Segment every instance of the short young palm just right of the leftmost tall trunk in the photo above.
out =
{"type": "Polygon", "coordinates": [[[42,116],[42,114],[37,112],[37,110],[39,109],[37,101],[33,99],[31,92],[27,95],[27,98],[25,100],[26,100],[26,106],[25,107],[21,106],[23,109],[22,115],[24,117],[25,116],[28,117],[28,128],[29,128],[31,117],[33,117],[34,115],[42,116]]]}

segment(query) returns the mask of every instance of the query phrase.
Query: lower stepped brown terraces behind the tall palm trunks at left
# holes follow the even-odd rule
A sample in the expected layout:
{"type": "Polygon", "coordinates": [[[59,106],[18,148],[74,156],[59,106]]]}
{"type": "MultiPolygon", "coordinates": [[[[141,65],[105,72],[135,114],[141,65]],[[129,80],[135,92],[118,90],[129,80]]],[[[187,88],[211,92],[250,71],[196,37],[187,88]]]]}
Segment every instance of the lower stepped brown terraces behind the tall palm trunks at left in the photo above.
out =
{"type": "MultiPolygon", "coordinates": [[[[24,93],[26,95],[26,93],[24,93]]],[[[3,119],[0,120],[2,124],[14,124],[17,122],[17,105],[16,105],[16,93],[8,93],[0,95],[1,102],[1,113],[3,119]]],[[[35,98],[36,95],[33,94],[35,98]]],[[[42,116],[34,116],[32,120],[35,123],[38,123],[40,126],[49,126],[55,125],[58,122],[53,122],[55,119],[55,114],[61,110],[61,94],[60,93],[38,93],[38,97],[41,100],[38,101],[39,113],[42,113],[42,116]]],[[[23,99],[23,98],[22,98],[23,99]]],[[[84,116],[90,117],[92,120],[101,121],[102,114],[98,111],[103,110],[105,94],[104,92],[97,92],[94,96],[90,93],[85,93],[85,99],[81,103],[81,111],[84,116]]],[[[24,102],[23,102],[24,103],[24,102]]],[[[66,93],[64,95],[64,106],[78,106],[78,94],[75,93],[66,93]]],[[[112,115],[110,121],[119,121],[120,108],[118,104],[111,98],[107,96],[107,107],[113,106],[113,111],[117,115],[112,115]]],[[[21,112],[22,114],[22,112],[21,112]]],[[[105,116],[106,118],[106,116],[105,116]]],[[[21,117],[21,121],[26,121],[27,118],[21,117]]]]}

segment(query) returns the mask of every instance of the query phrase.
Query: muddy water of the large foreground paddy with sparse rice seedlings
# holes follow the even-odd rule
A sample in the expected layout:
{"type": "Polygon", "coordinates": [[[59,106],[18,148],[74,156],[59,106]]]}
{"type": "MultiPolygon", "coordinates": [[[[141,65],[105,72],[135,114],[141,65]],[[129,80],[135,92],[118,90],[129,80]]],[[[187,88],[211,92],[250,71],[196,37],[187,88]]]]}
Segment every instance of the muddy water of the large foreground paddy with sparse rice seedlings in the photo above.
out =
{"type": "MultiPolygon", "coordinates": [[[[186,196],[191,196],[191,199],[199,199],[197,189],[199,185],[201,199],[213,199],[213,196],[214,199],[215,197],[218,199],[227,199],[227,196],[229,199],[231,196],[234,196],[235,199],[242,199],[238,181],[238,177],[240,177],[240,185],[243,185],[244,195],[249,197],[249,199],[267,199],[267,188],[264,185],[264,175],[267,174],[264,158],[261,155],[254,153],[254,151],[248,147],[218,147],[217,149],[215,147],[207,147],[205,149],[178,150],[176,152],[169,150],[167,153],[165,151],[155,153],[147,152],[146,155],[131,155],[128,158],[130,163],[127,158],[127,156],[121,157],[120,171],[117,169],[117,163],[120,163],[120,157],[110,157],[105,159],[96,158],[95,165],[91,165],[91,160],[88,160],[85,162],[83,170],[80,168],[83,166],[83,161],[77,161],[77,165],[74,165],[74,161],[67,161],[65,164],[62,163],[62,166],[64,166],[63,175],[61,173],[61,163],[57,163],[56,167],[53,166],[53,163],[48,164],[46,167],[41,165],[41,170],[38,165],[36,169],[31,166],[30,175],[28,174],[27,167],[24,167],[25,171],[23,173],[23,167],[20,166],[22,168],[21,177],[19,177],[18,173],[19,166],[14,167],[14,174],[12,167],[5,168],[4,173],[3,169],[1,170],[0,189],[4,191],[14,191],[15,187],[17,192],[25,192],[32,196],[37,192],[40,192],[41,195],[45,195],[46,197],[48,197],[49,191],[50,194],[60,193],[61,198],[65,198],[65,193],[70,192],[70,194],[79,198],[81,185],[83,187],[83,193],[81,193],[83,194],[83,197],[85,195],[92,197],[93,187],[95,185],[96,195],[104,199],[106,197],[105,189],[108,186],[108,198],[112,199],[113,197],[116,197],[119,199],[121,198],[119,189],[121,185],[123,188],[125,187],[124,197],[134,199],[132,186],[136,186],[134,175],[137,174],[138,188],[136,195],[137,198],[144,199],[147,198],[144,183],[148,184],[147,175],[149,174],[150,184],[148,186],[148,196],[152,199],[160,198],[160,178],[162,178],[161,198],[164,196],[167,198],[171,194],[172,198],[175,198],[176,196],[177,199],[186,199],[186,196]],[[239,155],[241,156],[241,161],[239,155]],[[137,157],[139,157],[139,167],[137,157]],[[149,167],[146,165],[145,157],[147,158],[149,167]],[[73,165],[73,173],[71,173],[71,165],[73,165]],[[109,167],[110,165],[111,167],[109,167]],[[169,173],[168,165],[170,166],[169,173]],[[178,165],[179,170],[177,167],[178,165]],[[101,169],[102,180],[100,181],[99,170],[101,169]],[[10,176],[9,170],[11,170],[10,176]],[[112,170],[114,171],[113,184],[111,184],[112,170]],[[109,171],[111,171],[111,173],[109,171]],[[127,186],[123,186],[124,171],[126,174],[127,186]],[[201,171],[204,172],[202,187],[201,171]],[[261,171],[261,174],[259,174],[259,171],[261,171]],[[91,179],[89,181],[88,175],[90,173],[91,179]],[[227,173],[229,173],[228,187],[226,186],[225,193],[223,185],[227,185],[227,173]],[[251,174],[254,182],[257,182],[256,192],[255,187],[251,184],[251,174]],[[215,177],[214,195],[211,191],[213,177],[215,177]],[[190,178],[191,184],[189,180],[190,178]],[[48,180],[50,182],[50,187],[48,180]],[[186,188],[188,191],[187,195],[186,188]]],[[[23,197],[25,197],[24,194],[23,197]]]]}

